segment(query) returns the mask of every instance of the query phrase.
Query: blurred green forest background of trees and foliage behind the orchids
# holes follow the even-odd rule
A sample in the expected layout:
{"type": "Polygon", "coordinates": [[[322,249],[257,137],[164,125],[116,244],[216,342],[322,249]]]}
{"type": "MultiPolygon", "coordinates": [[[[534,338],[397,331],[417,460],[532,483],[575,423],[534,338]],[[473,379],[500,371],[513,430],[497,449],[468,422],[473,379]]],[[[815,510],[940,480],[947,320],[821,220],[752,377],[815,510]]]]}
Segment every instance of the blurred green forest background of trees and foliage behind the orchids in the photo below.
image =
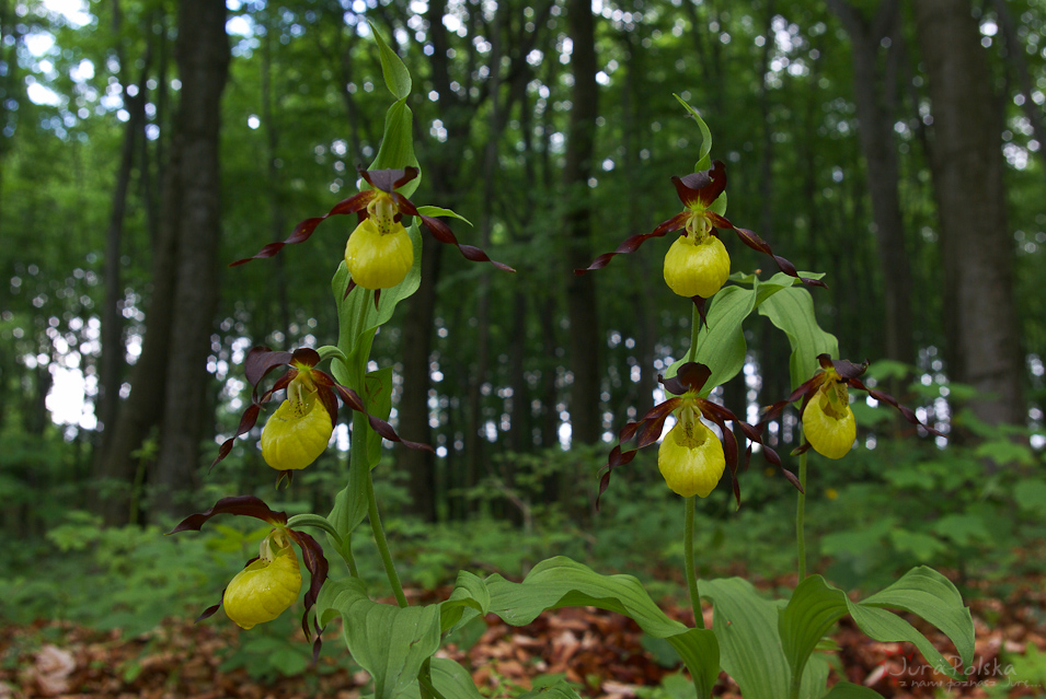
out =
{"type": "MultiPolygon", "coordinates": [[[[842,357],[885,360],[880,384],[949,434],[918,441],[857,406],[860,448],[812,457],[820,568],[851,586],[913,562],[967,581],[1043,572],[1042,2],[2,0],[11,618],[148,628],[206,599],[204,572],[234,570],[183,570],[191,545],[146,525],[271,492],[256,433],[208,466],[250,400],[248,349],[335,341],[327,279],[349,229],[226,265],[356,191],[389,102],[368,20],[415,77],[415,199],[469,218],[459,238],[518,270],[426,238],[423,287],[376,342],[393,423],[435,447],[388,450],[379,484],[407,580],[518,575],[550,551],[620,570],[678,557],[650,508],[668,496],[651,458],[601,513],[593,499],[616,431],[687,348],[689,302],[662,286],[656,242],[616,273],[571,273],[677,212],[669,177],[700,136],[673,93],[728,164],[732,220],[827,272],[814,299],[842,357]],[[95,583],[59,584],[84,559],[95,583]]],[[[729,248],[734,269],[766,267],[729,248]]],[[[716,394],[751,422],[791,391],[770,359],[786,338],[758,321],[744,374],[716,394]]],[[[770,443],[786,453],[795,426],[786,412],[770,443]]],[[[300,510],[344,480],[344,429],[295,480],[300,510]]],[[[760,466],[740,479],[739,512],[720,488],[701,515],[699,564],[771,578],[791,564],[791,486],[760,466]]],[[[211,545],[243,548],[237,532],[211,545]]]]}

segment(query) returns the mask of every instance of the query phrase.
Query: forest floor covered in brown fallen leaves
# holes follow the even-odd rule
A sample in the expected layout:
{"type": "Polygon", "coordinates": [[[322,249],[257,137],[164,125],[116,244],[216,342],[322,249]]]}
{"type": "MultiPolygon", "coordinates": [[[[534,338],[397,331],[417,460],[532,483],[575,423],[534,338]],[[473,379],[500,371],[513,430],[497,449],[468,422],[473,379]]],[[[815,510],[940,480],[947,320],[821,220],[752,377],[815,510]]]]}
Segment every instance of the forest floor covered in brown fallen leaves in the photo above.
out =
{"type": "MultiPolygon", "coordinates": [[[[872,641],[849,619],[832,633],[839,646],[836,666],[849,681],[887,699],[1046,697],[1044,583],[1012,585],[1005,599],[970,599],[976,656],[964,683],[933,674],[910,644],[872,641]],[[1023,665],[1015,669],[1019,660],[1023,665]]],[[[438,598],[438,593],[427,593],[424,601],[432,602],[433,594],[438,598]]],[[[687,608],[669,605],[666,611],[692,624],[687,608]]],[[[705,616],[711,626],[710,608],[705,616]]],[[[919,619],[910,620],[945,656],[954,654],[943,634],[919,619]]],[[[440,651],[470,667],[486,696],[513,696],[529,689],[536,678],[560,675],[575,683],[582,696],[642,698],[651,696],[643,688],[656,687],[679,672],[656,662],[656,650],[644,648],[643,633],[631,619],[599,609],[561,609],[522,627],[509,627],[493,616],[486,622],[486,631],[467,652],[453,644],[440,651]]],[[[325,651],[318,668],[261,681],[243,668],[219,669],[225,652],[248,638],[232,624],[170,619],[149,633],[125,638],[118,630],[103,632],[67,622],[9,626],[0,620],[0,699],[356,699],[368,691],[369,677],[347,668],[353,665],[334,626],[326,629],[325,643],[340,650],[325,651]]],[[[300,642],[308,648],[304,639],[300,642]]],[[[834,669],[830,681],[839,678],[834,669]]],[[[725,674],[713,694],[740,697],[725,674]]]]}

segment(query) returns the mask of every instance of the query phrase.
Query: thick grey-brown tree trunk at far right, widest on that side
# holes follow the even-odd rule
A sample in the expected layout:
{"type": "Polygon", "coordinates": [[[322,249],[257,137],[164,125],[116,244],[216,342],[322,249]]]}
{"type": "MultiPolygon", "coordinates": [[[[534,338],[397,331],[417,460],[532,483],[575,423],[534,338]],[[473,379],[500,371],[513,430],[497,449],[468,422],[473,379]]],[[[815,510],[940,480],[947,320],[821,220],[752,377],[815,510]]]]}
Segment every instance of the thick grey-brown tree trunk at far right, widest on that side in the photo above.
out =
{"type": "Polygon", "coordinates": [[[974,413],[1023,423],[1023,362],[1013,303],[997,97],[968,0],[915,3],[929,75],[930,165],[941,223],[949,373],[973,385],[974,413]]]}

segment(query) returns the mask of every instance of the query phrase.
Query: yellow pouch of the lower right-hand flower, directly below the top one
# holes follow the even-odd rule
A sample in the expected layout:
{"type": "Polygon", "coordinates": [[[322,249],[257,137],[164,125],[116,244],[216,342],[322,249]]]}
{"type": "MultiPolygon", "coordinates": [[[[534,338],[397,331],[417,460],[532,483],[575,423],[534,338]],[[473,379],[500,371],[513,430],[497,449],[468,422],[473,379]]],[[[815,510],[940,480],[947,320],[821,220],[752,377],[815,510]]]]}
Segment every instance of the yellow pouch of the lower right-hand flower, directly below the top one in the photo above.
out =
{"type": "Polygon", "coordinates": [[[673,492],[706,498],[726,467],[723,444],[691,408],[683,408],[657,450],[657,467],[673,492]]]}

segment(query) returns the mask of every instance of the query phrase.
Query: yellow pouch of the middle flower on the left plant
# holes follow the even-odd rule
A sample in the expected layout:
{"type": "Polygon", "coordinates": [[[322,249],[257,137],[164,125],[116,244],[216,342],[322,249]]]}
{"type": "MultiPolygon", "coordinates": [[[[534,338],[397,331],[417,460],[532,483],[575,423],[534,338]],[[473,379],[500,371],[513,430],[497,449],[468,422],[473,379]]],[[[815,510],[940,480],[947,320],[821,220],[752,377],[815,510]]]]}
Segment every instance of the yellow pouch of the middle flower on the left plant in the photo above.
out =
{"type": "MultiPolygon", "coordinates": [[[[297,381],[297,380],[296,380],[297,381]]],[[[262,430],[262,457],[276,470],[298,470],[326,450],[334,432],[331,413],[314,392],[292,391],[262,430]]]]}

